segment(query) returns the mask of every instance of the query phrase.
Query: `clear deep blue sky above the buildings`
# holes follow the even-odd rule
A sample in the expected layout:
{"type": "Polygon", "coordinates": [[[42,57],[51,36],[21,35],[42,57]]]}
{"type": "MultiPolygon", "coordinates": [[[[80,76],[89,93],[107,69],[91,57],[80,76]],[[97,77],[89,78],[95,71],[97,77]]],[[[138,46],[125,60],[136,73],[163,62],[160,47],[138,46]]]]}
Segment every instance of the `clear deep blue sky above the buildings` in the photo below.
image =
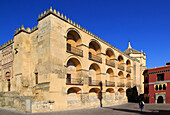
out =
{"type": "Polygon", "coordinates": [[[0,0],[0,44],[21,25],[37,25],[50,6],[121,51],[130,40],[148,68],[170,61],[170,0],[0,0]]]}

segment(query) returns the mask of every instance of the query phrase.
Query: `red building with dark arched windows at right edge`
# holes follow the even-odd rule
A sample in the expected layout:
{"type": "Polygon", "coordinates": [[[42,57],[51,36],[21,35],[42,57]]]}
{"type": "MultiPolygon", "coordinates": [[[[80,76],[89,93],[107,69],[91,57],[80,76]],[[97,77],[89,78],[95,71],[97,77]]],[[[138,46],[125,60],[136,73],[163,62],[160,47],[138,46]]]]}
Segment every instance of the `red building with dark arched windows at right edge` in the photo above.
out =
{"type": "Polygon", "coordinates": [[[144,101],[170,103],[170,62],[163,67],[147,69],[144,75],[144,101]]]}

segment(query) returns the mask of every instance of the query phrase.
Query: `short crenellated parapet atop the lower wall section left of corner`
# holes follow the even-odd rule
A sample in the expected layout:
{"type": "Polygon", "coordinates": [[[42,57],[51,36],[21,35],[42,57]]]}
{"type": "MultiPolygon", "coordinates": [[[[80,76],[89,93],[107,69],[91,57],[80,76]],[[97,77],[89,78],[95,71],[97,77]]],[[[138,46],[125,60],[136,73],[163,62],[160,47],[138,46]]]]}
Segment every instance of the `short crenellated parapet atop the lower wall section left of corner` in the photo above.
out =
{"type": "Polygon", "coordinates": [[[30,29],[29,27],[27,27],[25,29],[24,25],[22,25],[17,30],[15,30],[14,36],[19,34],[20,32],[26,32],[26,33],[30,34],[30,33],[34,32],[35,30],[37,30],[37,29],[38,29],[37,26],[33,27],[32,29],[30,29]]]}

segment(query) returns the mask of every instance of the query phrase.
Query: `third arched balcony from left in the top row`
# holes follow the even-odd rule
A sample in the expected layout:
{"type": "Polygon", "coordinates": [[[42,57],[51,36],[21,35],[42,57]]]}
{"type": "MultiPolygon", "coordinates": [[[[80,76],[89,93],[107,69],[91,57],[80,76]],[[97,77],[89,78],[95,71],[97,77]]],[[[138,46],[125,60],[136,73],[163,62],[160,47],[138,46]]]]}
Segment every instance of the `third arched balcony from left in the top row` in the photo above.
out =
{"type": "Polygon", "coordinates": [[[106,50],[106,65],[115,67],[115,62],[114,62],[114,53],[111,49],[106,50]]]}

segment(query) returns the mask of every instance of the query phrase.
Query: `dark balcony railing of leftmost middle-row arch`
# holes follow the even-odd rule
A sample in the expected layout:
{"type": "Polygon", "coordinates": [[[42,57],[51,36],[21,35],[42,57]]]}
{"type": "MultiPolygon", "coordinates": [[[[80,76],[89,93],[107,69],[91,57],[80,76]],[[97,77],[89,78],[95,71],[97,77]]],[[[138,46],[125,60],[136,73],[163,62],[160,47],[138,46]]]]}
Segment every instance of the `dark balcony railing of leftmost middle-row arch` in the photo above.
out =
{"type": "Polygon", "coordinates": [[[76,78],[67,78],[66,79],[66,84],[67,85],[83,85],[83,80],[82,79],[76,79],[76,78]]]}

